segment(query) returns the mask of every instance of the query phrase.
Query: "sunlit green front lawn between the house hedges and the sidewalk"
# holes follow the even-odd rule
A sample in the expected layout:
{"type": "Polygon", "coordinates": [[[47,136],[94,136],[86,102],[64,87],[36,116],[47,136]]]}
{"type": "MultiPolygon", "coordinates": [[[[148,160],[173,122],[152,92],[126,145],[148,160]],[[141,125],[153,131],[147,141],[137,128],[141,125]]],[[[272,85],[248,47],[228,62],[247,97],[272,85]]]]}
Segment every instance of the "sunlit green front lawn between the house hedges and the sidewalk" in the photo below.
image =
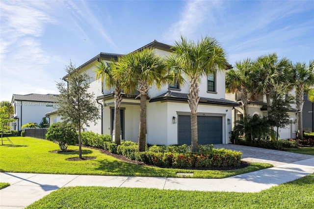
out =
{"type": "MultiPolygon", "coordinates": [[[[18,173],[49,174],[82,174],[108,176],[147,176],[178,177],[176,173],[194,173],[193,178],[226,178],[272,167],[265,163],[251,163],[242,169],[216,170],[184,170],[166,169],[153,166],[135,165],[107,156],[99,150],[82,148],[83,157],[96,157],[92,160],[68,161],[67,158],[78,157],[78,151],[67,153],[51,153],[59,146],[53,142],[30,137],[10,137],[14,145],[0,146],[0,171],[18,173]]],[[[77,146],[69,146],[69,150],[78,150],[77,146]]]]}

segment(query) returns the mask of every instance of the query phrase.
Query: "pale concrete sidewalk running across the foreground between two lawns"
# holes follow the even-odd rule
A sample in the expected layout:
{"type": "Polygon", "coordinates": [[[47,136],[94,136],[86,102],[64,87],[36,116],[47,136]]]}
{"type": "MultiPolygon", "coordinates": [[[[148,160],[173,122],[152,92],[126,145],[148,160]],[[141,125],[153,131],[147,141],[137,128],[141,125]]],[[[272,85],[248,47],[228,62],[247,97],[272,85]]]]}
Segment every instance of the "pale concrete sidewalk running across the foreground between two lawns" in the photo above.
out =
{"type": "Polygon", "coordinates": [[[314,158],[241,174],[225,179],[86,176],[0,173],[0,209],[20,209],[64,186],[115,186],[199,191],[259,192],[314,173],[314,158]]]}

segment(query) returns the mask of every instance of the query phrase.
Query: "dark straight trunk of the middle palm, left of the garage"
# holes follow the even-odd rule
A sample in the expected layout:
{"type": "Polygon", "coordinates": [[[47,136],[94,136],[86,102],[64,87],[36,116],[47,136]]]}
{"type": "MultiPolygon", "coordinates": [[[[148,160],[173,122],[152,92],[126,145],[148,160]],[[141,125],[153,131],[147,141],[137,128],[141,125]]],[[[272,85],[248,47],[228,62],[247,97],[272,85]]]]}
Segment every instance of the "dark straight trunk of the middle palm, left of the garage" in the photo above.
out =
{"type": "Polygon", "coordinates": [[[138,133],[138,152],[145,152],[146,144],[146,94],[140,96],[140,121],[139,121],[139,133],[138,133]]]}

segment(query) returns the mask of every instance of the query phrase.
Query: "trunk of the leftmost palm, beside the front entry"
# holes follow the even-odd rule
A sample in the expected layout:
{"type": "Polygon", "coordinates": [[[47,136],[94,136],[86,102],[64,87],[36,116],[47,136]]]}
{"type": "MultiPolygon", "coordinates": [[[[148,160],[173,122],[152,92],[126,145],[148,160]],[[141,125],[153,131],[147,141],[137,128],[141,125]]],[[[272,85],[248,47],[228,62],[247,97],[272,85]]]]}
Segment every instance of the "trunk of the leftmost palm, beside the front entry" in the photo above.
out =
{"type": "Polygon", "coordinates": [[[116,89],[114,93],[114,143],[120,144],[120,135],[121,135],[121,107],[122,95],[121,90],[116,89]]]}

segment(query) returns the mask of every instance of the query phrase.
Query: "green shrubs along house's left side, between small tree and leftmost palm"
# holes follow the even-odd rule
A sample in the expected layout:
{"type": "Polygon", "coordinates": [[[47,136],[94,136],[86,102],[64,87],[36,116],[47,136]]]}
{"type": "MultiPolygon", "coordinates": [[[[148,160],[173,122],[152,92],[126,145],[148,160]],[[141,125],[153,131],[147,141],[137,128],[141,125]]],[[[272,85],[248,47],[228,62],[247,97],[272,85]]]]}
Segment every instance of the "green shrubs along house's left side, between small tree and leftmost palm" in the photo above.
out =
{"type": "Polygon", "coordinates": [[[82,132],[81,140],[83,145],[97,148],[103,148],[105,141],[112,141],[111,135],[98,134],[92,131],[82,132]]]}

